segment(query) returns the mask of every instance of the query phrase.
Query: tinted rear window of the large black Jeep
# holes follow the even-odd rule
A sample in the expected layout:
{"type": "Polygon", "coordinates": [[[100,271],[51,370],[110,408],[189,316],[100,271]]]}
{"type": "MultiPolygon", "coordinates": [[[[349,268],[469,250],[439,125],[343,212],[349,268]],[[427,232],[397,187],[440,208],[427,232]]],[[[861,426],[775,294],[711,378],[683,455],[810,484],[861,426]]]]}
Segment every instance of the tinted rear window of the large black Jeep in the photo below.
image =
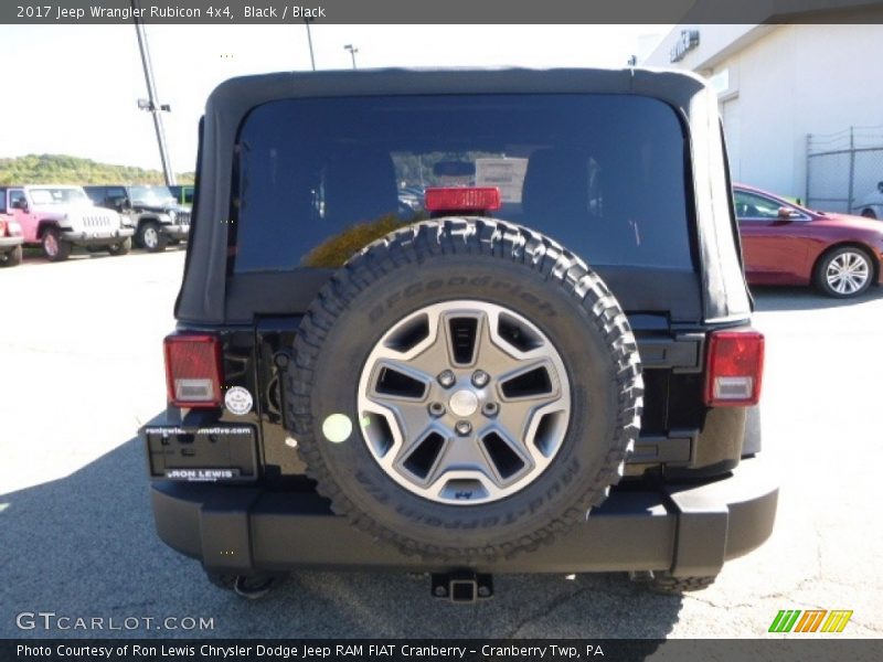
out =
{"type": "Polygon", "coordinates": [[[233,270],[337,267],[427,217],[429,186],[497,186],[493,216],[595,265],[692,269],[685,138],[629,95],[295,98],[240,130],[233,270]]]}

